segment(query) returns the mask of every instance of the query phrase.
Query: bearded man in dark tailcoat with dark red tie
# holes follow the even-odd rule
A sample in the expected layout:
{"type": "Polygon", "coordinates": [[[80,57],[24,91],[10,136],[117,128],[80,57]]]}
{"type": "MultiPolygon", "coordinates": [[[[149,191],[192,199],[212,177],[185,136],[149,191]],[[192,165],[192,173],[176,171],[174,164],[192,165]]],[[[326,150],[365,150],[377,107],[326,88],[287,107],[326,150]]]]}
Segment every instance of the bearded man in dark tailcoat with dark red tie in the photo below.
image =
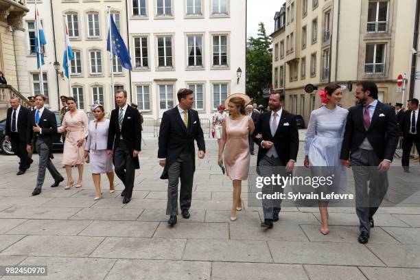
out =
{"type": "Polygon", "coordinates": [[[353,167],[356,213],[360,220],[358,241],[369,241],[373,215],[388,189],[388,169],[398,142],[395,110],[377,100],[374,82],[358,82],[358,105],[349,109],[340,159],[353,167]],[[349,161],[350,159],[350,161],[349,161]],[[368,190],[369,181],[369,190],[368,190]]]}

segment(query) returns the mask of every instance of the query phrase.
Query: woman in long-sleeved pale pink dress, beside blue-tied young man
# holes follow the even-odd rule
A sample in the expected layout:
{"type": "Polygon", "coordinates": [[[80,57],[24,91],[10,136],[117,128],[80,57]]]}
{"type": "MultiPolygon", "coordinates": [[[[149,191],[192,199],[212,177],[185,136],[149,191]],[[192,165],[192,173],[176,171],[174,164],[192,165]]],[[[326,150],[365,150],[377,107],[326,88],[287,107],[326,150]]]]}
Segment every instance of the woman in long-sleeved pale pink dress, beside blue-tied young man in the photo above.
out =
{"type": "Polygon", "coordinates": [[[75,187],[82,187],[83,181],[83,164],[84,164],[84,145],[89,132],[89,119],[82,110],[76,108],[75,99],[67,98],[67,106],[69,111],[66,113],[58,133],[66,132],[66,141],[62,152],[62,164],[66,167],[67,186],[70,189],[74,184],[71,176],[71,167],[78,165],[79,179],[75,187]]]}

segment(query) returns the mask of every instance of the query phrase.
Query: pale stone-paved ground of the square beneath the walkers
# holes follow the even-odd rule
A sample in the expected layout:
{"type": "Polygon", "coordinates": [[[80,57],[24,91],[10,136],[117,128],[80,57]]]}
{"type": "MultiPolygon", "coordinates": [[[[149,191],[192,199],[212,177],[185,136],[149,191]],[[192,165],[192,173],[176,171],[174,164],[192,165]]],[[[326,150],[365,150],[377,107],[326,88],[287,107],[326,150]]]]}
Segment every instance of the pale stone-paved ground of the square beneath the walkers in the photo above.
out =
{"type": "MultiPolygon", "coordinates": [[[[54,280],[420,279],[420,208],[382,207],[362,245],[352,207],[329,209],[331,232],[325,236],[317,208],[285,207],[274,229],[261,229],[261,209],[248,207],[244,187],[244,211],[231,222],[231,181],[216,164],[213,139],[207,139],[205,159],[197,160],[191,218],[178,216],[170,228],[157,141],[145,138],[128,205],[121,203],[119,180],[109,194],[105,176],[104,198],[93,200],[89,165],[81,189],[65,190],[65,182],[53,189],[47,173],[42,194],[32,197],[38,155],[23,176],[15,175],[16,156],[0,156],[0,265],[45,265],[47,277],[36,279],[54,280]]],[[[61,167],[62,155],[55,156],[61,167]]]]}

